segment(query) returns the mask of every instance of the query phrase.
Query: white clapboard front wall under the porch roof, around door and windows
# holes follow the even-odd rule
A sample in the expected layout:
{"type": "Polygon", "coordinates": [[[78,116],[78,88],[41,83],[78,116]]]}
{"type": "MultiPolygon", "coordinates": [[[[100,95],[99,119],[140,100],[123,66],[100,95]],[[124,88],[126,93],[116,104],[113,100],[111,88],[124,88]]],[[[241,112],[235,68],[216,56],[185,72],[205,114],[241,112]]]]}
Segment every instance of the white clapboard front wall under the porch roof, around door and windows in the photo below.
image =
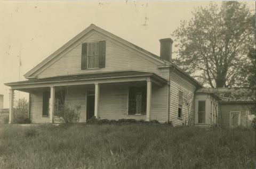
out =
{"type": "MultiPolygon", "coordinates": [[[[129,86],[138,85],[133,84],[118,84],[114,85],[100,85],[99,95],[99,111],[100,119],[135,119],[146,120],[146,115],[128,115],[128,89],[129,86]]],[[[146,82],[145,82],[146,85],[146,82]]],[[[94,90],[92,86],[69,87],[65,95],[65,102],[70,107],[81,106],[81,115],[79,122],[86,121],[86,98],[87,91],[94,90]]],[[[159,87],[152,85],[152,99],[150,108],[150,120],[158,120],[159,122],[166,122],[167,112],[167,85],[159,87]]],[[[31,94],[31,109],[30,120],[31,123],[49,123],[50,119],[42,117],[42,92],[31,94]]]]}

